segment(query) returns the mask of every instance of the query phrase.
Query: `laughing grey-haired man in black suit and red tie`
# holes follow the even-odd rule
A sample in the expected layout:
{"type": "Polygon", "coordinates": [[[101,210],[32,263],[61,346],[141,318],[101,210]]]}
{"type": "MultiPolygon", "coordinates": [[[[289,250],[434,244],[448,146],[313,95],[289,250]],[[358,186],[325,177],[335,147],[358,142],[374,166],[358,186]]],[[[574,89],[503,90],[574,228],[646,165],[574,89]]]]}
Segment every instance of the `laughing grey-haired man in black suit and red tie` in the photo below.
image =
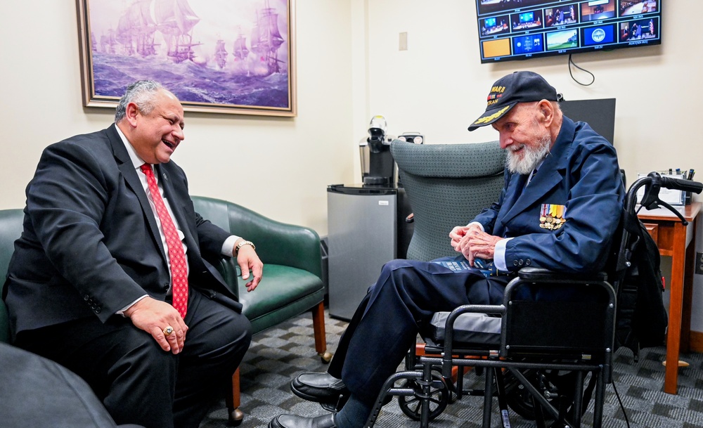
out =
{"type": "Polygon", "coordinates": [[[207,260],[236,257],[249,291],[263,265],[193,210],[169,162],[183,125],[176,96],[141,81],[108,129],[49,145],[8,268],[15,344],[83,377],[118,424],[198,427],[251,341],[207,260]]]}

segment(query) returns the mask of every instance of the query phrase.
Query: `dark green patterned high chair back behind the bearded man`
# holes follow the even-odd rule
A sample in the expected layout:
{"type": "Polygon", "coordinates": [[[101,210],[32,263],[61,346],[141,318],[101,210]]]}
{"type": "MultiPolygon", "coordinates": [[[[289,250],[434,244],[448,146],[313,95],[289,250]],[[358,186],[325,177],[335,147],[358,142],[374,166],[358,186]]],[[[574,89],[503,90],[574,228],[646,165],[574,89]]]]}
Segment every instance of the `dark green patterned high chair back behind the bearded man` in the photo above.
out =
{"type": "Polygon", "coordinates": [[[415,219],[408,259],[456,255],[449,245],[449,232],[498,200],[504,150],[498,141],[413,144],[395,140],[391,153],[415,219]]]}

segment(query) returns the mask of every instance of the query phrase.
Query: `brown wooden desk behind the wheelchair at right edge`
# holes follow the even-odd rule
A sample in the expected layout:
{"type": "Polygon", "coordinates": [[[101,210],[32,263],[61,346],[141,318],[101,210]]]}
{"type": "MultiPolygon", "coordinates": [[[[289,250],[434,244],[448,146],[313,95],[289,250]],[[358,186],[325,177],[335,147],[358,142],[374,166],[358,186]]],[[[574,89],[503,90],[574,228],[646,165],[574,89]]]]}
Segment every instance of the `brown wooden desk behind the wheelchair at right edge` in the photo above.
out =
{"type": "Polygon", "coordinates": [[[697,216],[701,202],[693,202],[684,208],[688,226],[667,209],[640,211],[638,217],[647,226],[659,247],[659,254],[671,257],[671,281],[669,282],[669,329],[666,335],[666,375],[664,392],[676,394],[678,380],[678,354],[689,351],[691,330],[691,299],[693,292],[693,269],[695,265],[695,237],[697,216]],[[688,261],[688,263],[687,263],[688,261]]]}

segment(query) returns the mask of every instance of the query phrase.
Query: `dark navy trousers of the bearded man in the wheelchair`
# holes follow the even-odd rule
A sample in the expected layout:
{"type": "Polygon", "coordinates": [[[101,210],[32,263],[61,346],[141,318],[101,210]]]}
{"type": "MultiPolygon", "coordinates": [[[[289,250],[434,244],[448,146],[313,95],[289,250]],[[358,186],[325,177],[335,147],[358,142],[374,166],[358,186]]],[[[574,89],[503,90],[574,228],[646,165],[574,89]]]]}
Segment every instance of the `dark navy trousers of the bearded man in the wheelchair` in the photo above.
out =
{"type": "Polygon", "coordinates": [[[433,313],[463,304],[502,304],[511,279],[456,273],[431,262],[389,261],[356,309],[328,372],[361,401],[373,403],[433,313]]]}

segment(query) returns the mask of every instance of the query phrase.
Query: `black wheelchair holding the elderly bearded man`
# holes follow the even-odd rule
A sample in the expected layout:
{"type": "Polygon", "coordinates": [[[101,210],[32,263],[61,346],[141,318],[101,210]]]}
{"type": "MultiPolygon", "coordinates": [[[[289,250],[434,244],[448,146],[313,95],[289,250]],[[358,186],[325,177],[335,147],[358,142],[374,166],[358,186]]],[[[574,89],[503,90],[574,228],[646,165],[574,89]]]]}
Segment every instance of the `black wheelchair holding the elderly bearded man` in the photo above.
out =
{"type": "Polygon", "coordinates": [[[522,268],[505,288],[503,304],[465,305],[451,313],[435,313],[430,325],[420,331],[424,351],[411,349],[405,370],[386,380],[365,427],[373,427],[389,396],[397,396],[401,410],[427,428],[449,403],[470,395],[484,397],[484,428],[491,427],[494,397],[503,428],[510,427],[508,408],[535,420],[538,428],[579,428],[593,396],[593,427],[600,428],[605,387],[612,382],[613,353],[619,345],[620,285],[636,245],[624,221],[627,216],[636,219],[642,187],[641,206],[666,207],[683,223],[675,208],[659,200],[659,189],[703,190],[702,183],[652,172],[626,193],[605,272],[575,275],[522,268]],[[525,299],[521,297],[525,287],[533,294],[557,287],[560,297],[525,299]],[[464,387],[468,368],[482,377],[482,389],[464,387]]]}

